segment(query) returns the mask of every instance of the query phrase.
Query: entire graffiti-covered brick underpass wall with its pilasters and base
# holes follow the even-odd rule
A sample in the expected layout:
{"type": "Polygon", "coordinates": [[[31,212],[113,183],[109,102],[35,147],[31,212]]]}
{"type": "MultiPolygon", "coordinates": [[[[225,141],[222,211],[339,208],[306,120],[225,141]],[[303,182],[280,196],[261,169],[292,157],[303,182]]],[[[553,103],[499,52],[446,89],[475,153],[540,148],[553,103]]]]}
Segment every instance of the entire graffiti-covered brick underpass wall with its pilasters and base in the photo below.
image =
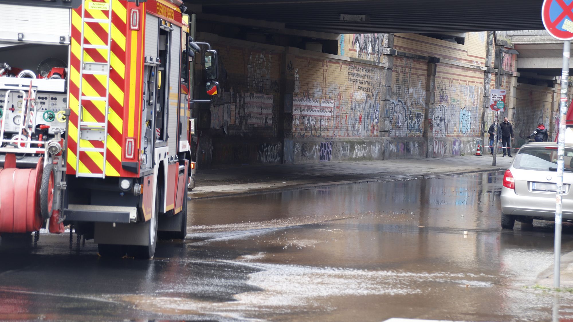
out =
{"type": "Polygon", "coordinates": [[[219,96],[194,108],[200,167],[461,155],[481,143],[485,33],[463,45],[346,34],[340,56],[198,38],[218,50],[221,71],[219,96]]]}

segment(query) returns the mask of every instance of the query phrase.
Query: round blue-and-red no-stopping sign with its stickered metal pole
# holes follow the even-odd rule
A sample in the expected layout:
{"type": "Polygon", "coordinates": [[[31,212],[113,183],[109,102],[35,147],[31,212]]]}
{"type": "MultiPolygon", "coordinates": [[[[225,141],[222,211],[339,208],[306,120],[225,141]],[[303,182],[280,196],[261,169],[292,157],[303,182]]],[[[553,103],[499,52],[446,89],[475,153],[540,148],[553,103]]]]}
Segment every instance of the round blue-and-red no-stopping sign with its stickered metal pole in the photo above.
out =
{"type": "Polygon", "coordinates": [[[541,19],[551,36],[563,40],[563,69],[561,71],[561,105],[559,109],[559,138],[557,149],[557,193],[555,198],[555,260],[553,286],[559,287],[561,266],[561,222],[563,205],[563,156],[565,154],[565,119],[567,115],[567,78],[569,76],[569,57],[573,39],[573,7],[563,0],[544,0],[541,7],[541,19]]]}

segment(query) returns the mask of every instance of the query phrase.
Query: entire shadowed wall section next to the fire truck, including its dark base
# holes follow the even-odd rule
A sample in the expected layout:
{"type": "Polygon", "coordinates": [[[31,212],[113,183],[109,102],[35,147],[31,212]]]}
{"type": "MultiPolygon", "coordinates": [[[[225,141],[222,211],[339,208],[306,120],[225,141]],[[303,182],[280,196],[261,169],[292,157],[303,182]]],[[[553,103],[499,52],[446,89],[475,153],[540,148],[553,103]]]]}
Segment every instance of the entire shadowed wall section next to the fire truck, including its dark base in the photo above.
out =
{"type": "MultiPolygon", "coordinates": [[[[278,111],[284,48],[213,34],[199,33],[198,40],[218,51],[220,83],[213,102],[193,110],[201,130],[194,137],[198,144],[192,144],[198,166],[282,162],[278,111]]],[[[195,97],[208,99],[200,60],[195,62],[195,97]]]]}

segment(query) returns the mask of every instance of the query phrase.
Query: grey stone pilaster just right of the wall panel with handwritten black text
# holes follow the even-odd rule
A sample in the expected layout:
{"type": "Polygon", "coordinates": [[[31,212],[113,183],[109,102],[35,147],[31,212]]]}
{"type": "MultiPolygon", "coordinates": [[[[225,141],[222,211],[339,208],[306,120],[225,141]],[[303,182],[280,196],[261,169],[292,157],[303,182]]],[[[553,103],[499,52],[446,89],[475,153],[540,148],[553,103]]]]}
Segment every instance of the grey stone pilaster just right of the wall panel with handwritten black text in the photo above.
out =
{"type": "MultiPolygon", "coordinates": [[[[386,67],[382,70],[382,84],[381,84],[381,97],[380,97],[380,138],[387,138],[390,133],[390,99],[392,97],[392,70],[394,69],[394,34],[384,34],[384,49],[382,54],[382,62],[386,67]]],[[[384,143],[384,157],[383,159],[390,158],[390,147],[388,142],[384,143]]]]}

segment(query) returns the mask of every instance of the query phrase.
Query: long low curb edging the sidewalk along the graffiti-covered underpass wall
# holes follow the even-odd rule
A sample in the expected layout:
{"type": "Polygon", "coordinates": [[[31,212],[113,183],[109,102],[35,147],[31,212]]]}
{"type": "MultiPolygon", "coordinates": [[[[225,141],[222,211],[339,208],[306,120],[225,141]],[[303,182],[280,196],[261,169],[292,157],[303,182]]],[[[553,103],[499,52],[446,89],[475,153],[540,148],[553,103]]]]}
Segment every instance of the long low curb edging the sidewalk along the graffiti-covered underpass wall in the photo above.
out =
{"type": "MultiPolygon", "coordinates": [[[[207,198],[221,198],[221,197],[234,197],[240,195],[257,195],[257,194],[264,194],[264,193],[280,193],[283,191],[291,191],[291,190],[302,190],[308,188],[320,188],[320,187],[330,187],[330,186],[339,186],[342,184],[358,184],[358,183],[368,183],[368,182],[394,182],[394,181],[405,181],[405,180],[415,180],[415,179],[429,179],[429,178],[438,178],[440,176],[450,176],[450,175],[460,175],[460,174],[470,174],[470,173],[479,173],[479,172],[488,172],[488,171],[499,171],[505,170],[507,167],[494,167],[494,168],[478,168],[478,169],[468,169],[468,170],[461,170],[461,171],[446,171],[446,172],[435,172],[433,174],[414,174],[414,175],[398,175],[398,176],[385,176],[385,177],[372,177],[368,179],[356,179],[356,180],[344,180],[344,181],[331,181],[331,182],[321,182],[321,183],[303,183],[303,184],[293,184],[292,186],[282,186],[282,187],[265,187],[265,188],[258,188],[258,189],[249,189],[249,190],[227,190],[221,193],[213,192],[213,193],[205,193],[210,195],[199,195],[198,197],[193,197],[192,195],[187,194],[187,200],[197,200],[197,199],[207,199],[207,198]]],[[[197,193],[200,194],[200,193],[197,193]]]]}

